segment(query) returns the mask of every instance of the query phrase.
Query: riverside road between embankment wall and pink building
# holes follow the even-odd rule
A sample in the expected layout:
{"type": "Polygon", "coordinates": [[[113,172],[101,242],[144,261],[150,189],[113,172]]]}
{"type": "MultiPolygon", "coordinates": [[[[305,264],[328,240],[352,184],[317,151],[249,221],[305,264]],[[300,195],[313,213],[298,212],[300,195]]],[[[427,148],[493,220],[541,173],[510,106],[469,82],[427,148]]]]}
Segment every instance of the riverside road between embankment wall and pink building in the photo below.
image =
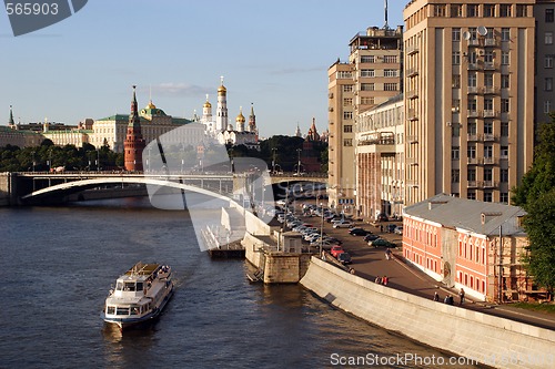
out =
{"type": "MultiPolygon", "coordinates": [[[[301,214],[302,203],[296,203],[296,213],[301,214]]],[[[312,224],[314,227],[320,227],[322,219],[317,216],[303,216],[304,222],[312,224]]],[[[401,225],[401,222],[384,222],[385,224],[401,225]]],[[[440,301],[443,301],[445,296],[452,295],[455,305],[458,306],[458,291],[447,288],[441,281],[433,279],[424,274],[418,268],[411,266],[404,262],[402,253],[402,235],[390,234],[380,230],[380,226],[374,226],[370,222],[362,219],[355,222],[356,227],[362,227],[370,230],[382,238],[395,243],[396,248],[392,248],[393,257],[386,259],[385,248],[372,247],[364,242],[362,236],[351,236],[347,228],[333,228],[332,224],[324,222],[324,233],[343,242],[342,247],[352,257],[352,268],[360,277],[369,280],[375,280],[377,276],[387,276],[387,287],[403,290],[408,294],[433,299],[434,293],[440,294],[440,301]]],[[[437,303],[443,304],[443,303],[437,303]]],[[[495,315],[507,319],[526,322],[533,326],[555,329],[555,317],[553,315],[536,312],[525,309],[512,307],[511,305],[493,305],[484,301],[476,301],[472,297],[465,297],[465,304],[462,308],[477,310],[484,314],[495,315]]]]}

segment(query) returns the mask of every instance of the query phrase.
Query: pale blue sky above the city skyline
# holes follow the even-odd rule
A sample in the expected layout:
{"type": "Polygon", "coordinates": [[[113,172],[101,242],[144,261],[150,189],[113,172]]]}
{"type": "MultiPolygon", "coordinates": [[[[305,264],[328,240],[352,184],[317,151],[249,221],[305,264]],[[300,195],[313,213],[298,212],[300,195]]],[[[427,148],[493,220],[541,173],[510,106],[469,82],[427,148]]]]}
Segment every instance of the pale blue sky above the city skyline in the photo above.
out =
{"type": "MultiPolygon", "coordinates": [[[[403,24],[405,0],[389,1],[403,24]]],[[[90,0],[72,17],[13,37],[0,14],[0,125],[77,124],[129,114],[149,99],[169,115],[215,114],[220,78],[235,123],[251,103],[261,137],[327,126],[327,69],[349,59],[349,41],[383,27],[384,1],[90,0]],[[346,6],[347,4],[347,6],[346,6]],[[3,115],[3,117],[2,117],[3,115]]]]}

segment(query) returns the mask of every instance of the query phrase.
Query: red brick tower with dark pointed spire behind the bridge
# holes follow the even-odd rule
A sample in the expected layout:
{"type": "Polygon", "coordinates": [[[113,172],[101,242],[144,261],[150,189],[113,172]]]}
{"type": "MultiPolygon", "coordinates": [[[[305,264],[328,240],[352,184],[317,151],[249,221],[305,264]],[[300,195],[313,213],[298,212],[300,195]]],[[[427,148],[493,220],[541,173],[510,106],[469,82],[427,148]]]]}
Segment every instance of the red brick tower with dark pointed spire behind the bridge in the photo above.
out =
{"type": "Polygon", "coordinates": [[[141,121],[137,109],[135,85],[133,85],[133,100],[129,114],[128,134],[123,143],[125,171],[142,171],[142,152],[147,146],[141,134],[141,121]]]}

